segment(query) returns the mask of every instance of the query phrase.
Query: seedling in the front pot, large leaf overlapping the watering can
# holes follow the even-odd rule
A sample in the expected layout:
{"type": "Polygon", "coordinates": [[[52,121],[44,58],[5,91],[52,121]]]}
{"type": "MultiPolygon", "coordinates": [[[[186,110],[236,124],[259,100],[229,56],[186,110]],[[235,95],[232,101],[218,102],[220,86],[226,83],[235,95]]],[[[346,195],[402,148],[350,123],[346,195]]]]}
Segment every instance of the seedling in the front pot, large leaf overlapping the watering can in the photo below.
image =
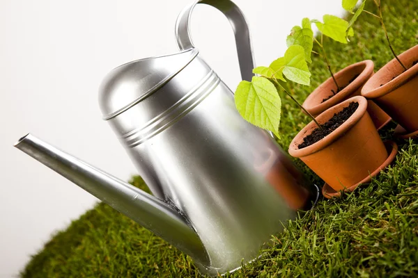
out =
{"type": "MultiPolygon", "coordinates": [[[[249,81],[241,81],[235,90],[235,106],[240,115],[261,129],[272,131],[279,136],[281,99],[277,88],[284,90],[295,103],[300,106],[316,122],[314,116],[306,111],[299,102],[281,85],[286,79],[309,85],[309,72],[305,58],[305,49],[300,45],[292,45],[286,50],[284,57],[274,60],[269,67],[256,67],[254,76],[249,81]]],[[[318,124],[318,122],[316,122],[318,124]]]]}

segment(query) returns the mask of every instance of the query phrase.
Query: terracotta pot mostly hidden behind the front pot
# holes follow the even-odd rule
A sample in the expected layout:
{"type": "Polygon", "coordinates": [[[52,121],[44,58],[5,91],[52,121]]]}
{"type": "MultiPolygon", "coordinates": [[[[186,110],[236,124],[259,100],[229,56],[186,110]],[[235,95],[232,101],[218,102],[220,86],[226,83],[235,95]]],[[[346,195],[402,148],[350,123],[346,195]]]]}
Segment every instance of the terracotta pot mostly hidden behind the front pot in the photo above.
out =
{"type": "MultiPolygon", "coordinates": [[[[343,70],[340,70],[334,74],[334,77],[336,79],[336,83],[338,83],[339,86],[346,86],[346,88],[336,92],[336,85],[332,77],[330,77],[324,83],[320,84],[318,88],[314,90],[314,92],[311,92],[302,106],[307,109],[309,113],[314,115],[314,117],[316,117],[328,108],[331,108],[332,106],[339,104],[342,101],[349,99],[350,97],[360,95],[363,85],[366,83],[366,81],[369,80],[371,76],[373,76],[373,69],[374,63],[372,60],[364,60],[343,68],[343,70]],[[336,92],[336,95],[330,99],[327,99],[333,94],[332,90],[336,92]],[[323,101],[323,99],[327,100],[323,101]]],[[[373,101],[368,102],[369,104],[367,111],[371,116],[371,120],[373,120],[376,129],[381,129],[383,126],[385,126],[385,124],[390,122],[391,118],[384,111],[382,111],[379,106],[373,103],[373,101]]]]}

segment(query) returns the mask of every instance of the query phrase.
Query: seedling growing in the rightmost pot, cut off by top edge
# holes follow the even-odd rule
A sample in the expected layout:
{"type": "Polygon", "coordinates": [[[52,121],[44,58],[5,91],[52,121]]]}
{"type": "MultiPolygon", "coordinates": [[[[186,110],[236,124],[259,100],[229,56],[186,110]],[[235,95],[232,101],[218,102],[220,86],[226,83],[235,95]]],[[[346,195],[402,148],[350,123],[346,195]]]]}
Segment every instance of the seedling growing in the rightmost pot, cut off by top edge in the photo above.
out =
{"type": "MultiPolygon", "coordinates": [[[[353,17],[351,18],[350,23],[348,24],[347,30],[353,26],[354,22],[357,20],[357,17],[359,17],[359,15],[362,12],[368,13],[369,15],[373,15],[373,17],[377,17],[380,20],[380,24],[382,25],[383,31],[385,31],[385,36],[386,36],[387,44],[389,44],[390,51],[392,51],[392,54],[394,55],[394,57],[396,58],[398,63],[403,67],[403,70],[408,70],[405,67],[405,65],[403,65],[401,60],[399,60],[398,56],[396,56],[396,53],[395,53],[395,51],[392,47],[392,44],[389,40],[389,35],[387,35],[385,22],[383,21],[382,6],[380,6],[380,0],[373,0],[373,2],[376,4],[376,7],[378,8],[378,15],[375,15],[374,13],[371,13],[367,10],[364,10],[364,5],[366,5],[366,0],[363,0],[362,3],[360,4],[359,8],[355,11],[353,17]]],[[[357,0],[343,0],[342,5],[343,5],[344,9],[348,10],[350,13],[353,13],[353,9],[357,5],[357,0]]]]}

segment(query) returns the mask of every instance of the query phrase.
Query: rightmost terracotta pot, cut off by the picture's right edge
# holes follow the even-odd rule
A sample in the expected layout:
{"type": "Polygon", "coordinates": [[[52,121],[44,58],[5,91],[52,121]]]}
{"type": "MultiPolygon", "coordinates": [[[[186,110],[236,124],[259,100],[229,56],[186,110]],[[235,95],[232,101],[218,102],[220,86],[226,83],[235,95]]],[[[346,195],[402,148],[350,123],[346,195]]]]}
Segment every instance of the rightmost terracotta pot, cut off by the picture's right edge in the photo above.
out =
{"type": "Polygon", "coordinates": [[[418,131],[418,45],[394,58],[366,82],[362,96],[373,101],[409,132],[418,131]],[[411,67],[412,66],[412,67],[411,67]],[[395,77],[395,78],[394,78],[395,77]]]}

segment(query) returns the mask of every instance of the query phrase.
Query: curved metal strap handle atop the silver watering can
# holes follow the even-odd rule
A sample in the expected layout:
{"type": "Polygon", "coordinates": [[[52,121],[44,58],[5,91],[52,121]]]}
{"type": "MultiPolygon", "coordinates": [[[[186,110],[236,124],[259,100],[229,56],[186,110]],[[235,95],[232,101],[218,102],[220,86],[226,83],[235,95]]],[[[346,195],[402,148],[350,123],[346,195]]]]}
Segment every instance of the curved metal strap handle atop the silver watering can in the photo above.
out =
{"type": "Polygon", "coordinates": [[[254,69],[254,58],[249,37],[249,28],[242,11],[238,6],[229,0],[196,0],[191,5],[184,8],[177,17],[176,39],[180,50],[194,48],[192,37],[190,35],[190,18],[194,6],[198,3],[204,3],[220,10],[231,23],[235,33],[235,44],[238,51],[238,61],[240,62],[241,77],[243,80],[251,81],[252,70],[254,69]]]}

